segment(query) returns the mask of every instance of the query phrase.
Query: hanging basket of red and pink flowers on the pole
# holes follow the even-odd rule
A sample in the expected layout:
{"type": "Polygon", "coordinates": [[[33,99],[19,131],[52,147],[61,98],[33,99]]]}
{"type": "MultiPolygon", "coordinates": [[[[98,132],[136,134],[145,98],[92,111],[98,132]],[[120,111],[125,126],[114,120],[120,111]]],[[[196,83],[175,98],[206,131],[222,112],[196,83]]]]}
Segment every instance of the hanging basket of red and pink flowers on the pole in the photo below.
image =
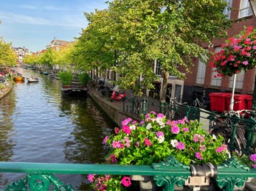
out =
{"type": "Polygon", "coordinates": [[[218,76],[233,76],[235,73],[255,68],[256,29],[249,26],[236,37],[230,37],[212,57],[210,66],[218,76]]]}

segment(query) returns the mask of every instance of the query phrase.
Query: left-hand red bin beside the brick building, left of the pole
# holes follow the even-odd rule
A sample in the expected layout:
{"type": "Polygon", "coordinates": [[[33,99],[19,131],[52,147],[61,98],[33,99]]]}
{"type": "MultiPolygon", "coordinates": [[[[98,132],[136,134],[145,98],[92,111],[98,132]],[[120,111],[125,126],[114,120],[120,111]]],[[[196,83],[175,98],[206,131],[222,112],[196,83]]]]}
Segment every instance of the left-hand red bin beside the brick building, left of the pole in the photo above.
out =
{"type": "Polygon", "coordinates": [[[210,106],[212,111],[224,112],[226,110],[226,93],[210,93],[210,106]]]}

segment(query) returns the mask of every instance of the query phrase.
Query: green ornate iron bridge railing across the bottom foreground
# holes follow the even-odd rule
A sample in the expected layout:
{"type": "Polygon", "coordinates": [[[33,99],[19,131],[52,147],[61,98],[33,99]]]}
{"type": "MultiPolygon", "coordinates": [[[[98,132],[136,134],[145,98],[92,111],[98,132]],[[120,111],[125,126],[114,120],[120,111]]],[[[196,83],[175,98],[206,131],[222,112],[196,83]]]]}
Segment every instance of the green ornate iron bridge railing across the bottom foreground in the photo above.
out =
{"type": "Polygon", "coordinates": [[[169,191],[186,185],[187,179],[203,177],[213,179],[223,190],[243,187],[248,178],[256,177],[256,169],[245,167],[231,158],[223,165],[184,165],[170,156],[164,162],[153,165],[82,165],[60,163],[0,162],[1,173],[27,173],[23,179],[11,182],[6,191],[16,190],[74,190],[71,184],[63,184],[55,173],[109,174],[152,176],[158,187],[169,191]]]}

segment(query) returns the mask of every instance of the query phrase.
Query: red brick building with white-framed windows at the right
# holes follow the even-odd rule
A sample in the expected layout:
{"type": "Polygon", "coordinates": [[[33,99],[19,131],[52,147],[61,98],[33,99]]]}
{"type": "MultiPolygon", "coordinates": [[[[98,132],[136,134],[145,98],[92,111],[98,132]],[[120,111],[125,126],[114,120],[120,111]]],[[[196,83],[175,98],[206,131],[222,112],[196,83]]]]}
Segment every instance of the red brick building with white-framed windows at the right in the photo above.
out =
{"type": "MultiPolygon", "coordinates": [[[[228,30],[228,37],[238,35],[244,26],[256,27],[255,15],[253,14],[249,0],[226,0],[232,5],[232,10],[228,13],[232,21],[232,28],[228,30]]],[[[203,47],[208,48],[212,52],[220,51],[221,45],[228,38],[214,40],[212,45],[205,44],[203,47]]],[[[216,76],[216,72],[196,58],[195,65],[187,73],[184,80],[183,101],[190,103],[195,98],[195,94],[202,95],[205,91],[206,95],[212,92],[232,92],[232,84],[234,77],[216,76]]],[[[242,72],[237,75],[235,83],[235,93],[252,94],[255,84],[255,69],[242,72]]]]}

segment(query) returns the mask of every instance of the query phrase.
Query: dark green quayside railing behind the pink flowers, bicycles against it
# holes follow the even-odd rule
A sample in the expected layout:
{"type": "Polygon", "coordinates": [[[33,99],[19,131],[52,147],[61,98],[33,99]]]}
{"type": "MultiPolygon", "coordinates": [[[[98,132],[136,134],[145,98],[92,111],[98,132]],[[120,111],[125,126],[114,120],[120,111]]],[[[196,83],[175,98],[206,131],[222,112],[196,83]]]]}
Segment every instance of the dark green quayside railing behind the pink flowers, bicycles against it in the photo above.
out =
{"type": "Polygon", "coordinates": [[[252,111],[251,113],[245,111],[243,114],[233,112],[224,115],[198,107],[190,107],[176,101],[167,103],[135,96],[131,96],[128,101],[131,103],[126,103],[126,110],[123,107],[124,112],[136,118],[154,111],[163,113],[170,120],[179,120],[184,117],[188,120],[197,119],[204,130],[223,136],[230,151],[239,151],[243,154],[256,152],[256,117],[252,111]]]}

